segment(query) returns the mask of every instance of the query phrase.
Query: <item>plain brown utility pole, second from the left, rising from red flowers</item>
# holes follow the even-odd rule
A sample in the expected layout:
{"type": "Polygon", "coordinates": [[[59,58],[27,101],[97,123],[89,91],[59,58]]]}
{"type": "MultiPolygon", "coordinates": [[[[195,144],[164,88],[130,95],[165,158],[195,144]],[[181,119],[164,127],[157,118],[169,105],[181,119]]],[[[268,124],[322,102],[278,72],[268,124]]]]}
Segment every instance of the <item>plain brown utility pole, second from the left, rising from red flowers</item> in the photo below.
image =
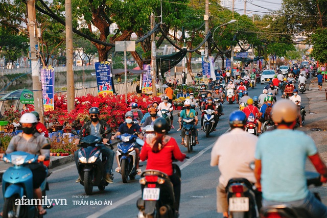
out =
{"type": "Polygon", "coordinates": [[[74,85],[74,50],[73,50],[73,24],[72,24],[72,0],[65,0],[66,13],[66,69],[67,69],[67,110],[75,109],[75,85],[74,85]]]}

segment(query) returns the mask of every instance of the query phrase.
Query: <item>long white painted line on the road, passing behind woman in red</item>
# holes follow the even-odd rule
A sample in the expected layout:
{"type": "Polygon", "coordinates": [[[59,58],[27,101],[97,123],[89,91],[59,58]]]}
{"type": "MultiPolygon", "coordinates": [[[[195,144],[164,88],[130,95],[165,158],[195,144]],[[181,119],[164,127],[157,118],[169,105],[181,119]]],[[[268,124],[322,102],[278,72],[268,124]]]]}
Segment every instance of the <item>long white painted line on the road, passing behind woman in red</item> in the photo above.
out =
{"type": "MultiPolygon", "coordinates": [[[[205,149],[203,149],[202,151],[200,151],[197,155],[195,155],[194,157],[190,158],[188,161],[186,161],[185,163],[183,163],[179,168],[180,169],[183,169],[186,166],[190,165],[196,158],[200,157],[201,155],[204,154],[204,152],[206,152],[209,149],[211,149],[214,146],[215,143],[216,142],[212,143],[210,146],[208,146],[205,149]]],[[[94,213],[92,215],[87,216],[86,218],[97,218],[97,217],[100,217],[101,215],[109,212],[110,210],[113,210],[116,207],[121,206],[122,204],[125,204],[125,203],[127,203],[127,202],[129,202],[129,201],[131,201],[131,200],[133,200],[133,199],[135,199],[137,197],[140,197],[141,194],[142,194],[141,190],[138,190],[138,191],[132,193],[131,195],[129,195],[129,196],[127,196],[127,197],[119,200],[118,202],[115,202],[112,205],[107,206],[107,207],[99,210],[98,212],[96,212],[96,213],[94,213]]]]}

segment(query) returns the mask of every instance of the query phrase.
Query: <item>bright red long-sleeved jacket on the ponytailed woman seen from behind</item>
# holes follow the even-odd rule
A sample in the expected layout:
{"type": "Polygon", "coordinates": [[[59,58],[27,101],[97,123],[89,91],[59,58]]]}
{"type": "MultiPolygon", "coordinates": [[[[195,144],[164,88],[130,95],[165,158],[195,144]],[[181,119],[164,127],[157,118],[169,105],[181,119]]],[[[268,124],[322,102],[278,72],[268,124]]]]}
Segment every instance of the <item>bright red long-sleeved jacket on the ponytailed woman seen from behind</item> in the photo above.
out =
{"type": "Polygon", "coordinates": [[[164,147],[158,153],[153,153],[154,140],[155,137],[147,138],[139,155],[140,159],[142,161],[148,159],[147,169],[155,169],[168,176],[173,175],[172,156],[174,155],[175,159],[183,161],[186,155],[180,152],[176,140],[168,135],[165,135],[162,140],[164,147]]]}

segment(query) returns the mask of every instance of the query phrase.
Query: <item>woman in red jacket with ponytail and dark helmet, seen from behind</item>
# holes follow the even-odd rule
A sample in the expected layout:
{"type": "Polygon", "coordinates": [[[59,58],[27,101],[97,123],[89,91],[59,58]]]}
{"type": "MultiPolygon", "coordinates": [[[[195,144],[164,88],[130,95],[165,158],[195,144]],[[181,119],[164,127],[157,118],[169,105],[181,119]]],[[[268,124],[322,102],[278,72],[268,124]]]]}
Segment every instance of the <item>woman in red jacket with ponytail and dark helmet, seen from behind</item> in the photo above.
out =
{"type": "Polygon", "coordinates": [[[168,123],[165,118],[158,118],[154,122],[156,136],[147,138],[141,151],[142,161],[148,159],[146,169],[155,169],[169,176],[174,185],[175,210],[178,211],[180,199],[180,178],[173,174],[173,157],[183,161],[186,157],[181,153],[176,140],[166,135],[168,123]]]}

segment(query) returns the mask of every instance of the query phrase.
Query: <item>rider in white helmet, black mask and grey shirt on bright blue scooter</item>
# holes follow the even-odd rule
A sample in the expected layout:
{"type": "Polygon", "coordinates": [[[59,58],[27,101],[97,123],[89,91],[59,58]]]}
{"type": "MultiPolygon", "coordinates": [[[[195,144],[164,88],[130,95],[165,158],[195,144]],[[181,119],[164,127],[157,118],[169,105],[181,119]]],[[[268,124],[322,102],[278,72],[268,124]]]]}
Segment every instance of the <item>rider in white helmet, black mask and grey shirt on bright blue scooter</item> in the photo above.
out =
{"type": "MultiPolygon", "coordinates": [[[[46,144],[49,144],[48,140],[40,134],[36,125],[38,120],[33,113],[25,113],[21,115],[19,123],[22,129],[22,133],[14,136],[8,145],[6,154],[10,154],[14,151],[22,151],[30,154],[38,155],[38,161],[44,161],[46,158],[50,157],[50,150],[41,149],[46,144]]],[[[0,154],[0,158],[3,158],[4,154],[0,154]]],[[[33,192],[37,199],[41,202],[42,191],[40,185],[46,178],[45,166],[42,163],[31,163],[26,165],[29,167],[33,174],[33,192]]],[[[45,215],[46,210],[42,205],[37,205],[39,215],[45,215]]],[[[2,212],[0,214],[3,215],[2,212]]]]}

